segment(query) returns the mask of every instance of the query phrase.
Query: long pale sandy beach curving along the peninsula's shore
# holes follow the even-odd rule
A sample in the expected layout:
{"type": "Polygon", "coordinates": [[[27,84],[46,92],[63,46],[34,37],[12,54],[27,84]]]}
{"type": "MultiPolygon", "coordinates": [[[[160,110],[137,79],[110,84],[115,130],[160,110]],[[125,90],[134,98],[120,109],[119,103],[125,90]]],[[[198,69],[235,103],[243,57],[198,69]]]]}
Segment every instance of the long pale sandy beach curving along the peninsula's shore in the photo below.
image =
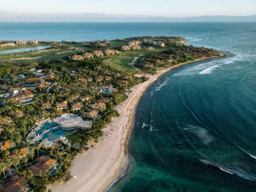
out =
{"type": "MultiPolygon", "coordinates": [[[[225,56],[214,56],[217,58],[225,56]]],[[[207,60],[201,58],[187,63],[180,63],[173,67],[161,69],[154,76],[147,74],[148,80],[131,88],[128,98],[116,106],[119,117],[113,118],[113,122],[103,129],[108,134],[106,140],[100,140],[97,145],[84,154],[78,154],[72,164],[70,172],[76,179],[70,179],[67,183],[51,184],[52,191],[105,191],[113,182],[125,172],[127,168],[127,141],[132,129],[136,106],[141,95],[150,84],[154,83],[164,73],[189,63],[207,60]]]]}

